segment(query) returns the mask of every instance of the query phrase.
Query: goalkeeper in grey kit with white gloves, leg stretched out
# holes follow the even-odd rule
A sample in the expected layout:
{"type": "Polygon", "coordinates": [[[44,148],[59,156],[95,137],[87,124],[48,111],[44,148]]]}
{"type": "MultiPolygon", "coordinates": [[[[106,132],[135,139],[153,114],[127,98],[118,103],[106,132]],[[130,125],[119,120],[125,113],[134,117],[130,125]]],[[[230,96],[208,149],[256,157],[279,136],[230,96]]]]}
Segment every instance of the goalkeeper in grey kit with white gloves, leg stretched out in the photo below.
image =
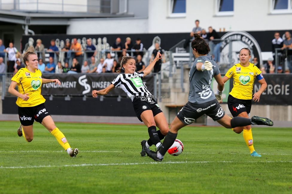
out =
{"type": "Polygon", "coordinates": [[[200,116],[206,114],[223,127],[235,128],[247,125],[268,125],[272,126],[273,121],[269,118],[253,116],[250,118],[227,116],[218,101],[222,99],[224,82],[219,68],[212,56],[207,56],[210,52],[209,45],[200,35],[194,34],[195,39],[191,47],[196,57],[189,73],[190,92],[188,103],[185,104],[171,123],[170,130],[164,138],[159,151],[154,152],[146,148],[147,155],[155,161],[162,161],[165,153],[174,143],[178,130],[194,122],[200,116]],[[218,83],[216,96],[211,90],[211,81],[215,78],[218,83]]]}

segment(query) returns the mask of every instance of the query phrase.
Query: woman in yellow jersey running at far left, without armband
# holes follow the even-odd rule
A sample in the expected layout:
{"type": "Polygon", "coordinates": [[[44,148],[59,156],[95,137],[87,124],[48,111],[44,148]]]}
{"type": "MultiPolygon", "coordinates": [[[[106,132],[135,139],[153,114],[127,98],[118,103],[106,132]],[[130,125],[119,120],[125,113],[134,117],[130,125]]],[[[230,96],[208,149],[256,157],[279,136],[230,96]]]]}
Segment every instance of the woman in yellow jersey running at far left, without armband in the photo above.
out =
{"type": "Polygon", "coordinates": [[[44,79],[38,70],[38,58],[34,53],[34,47],[28,47],[23,54],[25,68],[21,68],[11,79],[8,92],[17,96],[18,115],[20,127],[18,136],[24,136],[25,140],[31,142],[34,138],[34,120],[41,123],[48,131],[55,136],[59,144],[67,151],[71,157],[76,157],[78,149],[72,149],[63,133],[56,127],[51,115],[45,108],[45,98],[41,95],[42,84],[55,82],[61,84],[58,79],[44,79]],[[15,87],[18,87],[18,91],[15,87]]]}

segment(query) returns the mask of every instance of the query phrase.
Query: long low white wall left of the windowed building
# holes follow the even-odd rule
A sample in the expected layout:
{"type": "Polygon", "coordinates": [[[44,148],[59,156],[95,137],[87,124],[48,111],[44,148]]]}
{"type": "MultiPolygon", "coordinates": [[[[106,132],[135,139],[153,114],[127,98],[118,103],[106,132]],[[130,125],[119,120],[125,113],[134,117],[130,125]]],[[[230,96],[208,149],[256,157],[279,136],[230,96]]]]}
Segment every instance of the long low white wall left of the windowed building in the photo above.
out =
{"type": "Polygon", "coordinates": [[[135,34],[147,29],[147,18],[71,19],[67,34],[135,34]]]}

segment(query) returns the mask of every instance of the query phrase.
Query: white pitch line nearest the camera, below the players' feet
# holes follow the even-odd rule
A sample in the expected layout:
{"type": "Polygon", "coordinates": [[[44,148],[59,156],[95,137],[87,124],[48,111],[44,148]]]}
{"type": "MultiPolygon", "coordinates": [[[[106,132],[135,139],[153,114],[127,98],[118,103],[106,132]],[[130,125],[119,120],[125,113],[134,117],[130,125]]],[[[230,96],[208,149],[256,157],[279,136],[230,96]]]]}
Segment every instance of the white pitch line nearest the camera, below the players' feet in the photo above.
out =
{"type": "MultiPolygon", "coordinates": [[[[68,165],[60,165],[60,166],[26,166],[26,167],[22,167],[22,166],[15,166],[15,167],[3,167],[1,166],[0,169],[19,169],[19,168],[52,168],[52,167],[84,167],[84,166],[119,166],[119,165],[143,165],[143,164],[185,164],[185,163],[214,163],[216,161],[176,161],[176,162],[142,162],[142,163],[111,163],[111,164],[68,164],[68,165]]],[[[217,161],[218,163],[235,163],[235,162],[240,162],[243,163],[241,161],[217,161]]],[[[257,162],[261,162],[261,163],[271,163],[271,162],[281,162],[281,163],[291,163],[292,161],[244,161],[247,163],[257,163],[257,162]]]]}

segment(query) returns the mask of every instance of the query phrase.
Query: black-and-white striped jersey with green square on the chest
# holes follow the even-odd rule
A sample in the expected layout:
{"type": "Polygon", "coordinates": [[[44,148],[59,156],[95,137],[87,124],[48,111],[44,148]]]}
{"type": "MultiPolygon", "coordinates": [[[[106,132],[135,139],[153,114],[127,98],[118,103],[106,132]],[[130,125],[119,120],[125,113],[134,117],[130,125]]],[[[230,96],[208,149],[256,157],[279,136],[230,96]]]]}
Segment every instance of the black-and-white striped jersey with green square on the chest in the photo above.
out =
{"type": "Polygon", "coordinates": [[[152,96],[147,90],[145,83],[142,81],[144,72],[134,72],[133,74],[125,73],[119,74],[111,84],[115,87],[123,89],[127,95],[132,99],[134,96],[152,96]]]}

